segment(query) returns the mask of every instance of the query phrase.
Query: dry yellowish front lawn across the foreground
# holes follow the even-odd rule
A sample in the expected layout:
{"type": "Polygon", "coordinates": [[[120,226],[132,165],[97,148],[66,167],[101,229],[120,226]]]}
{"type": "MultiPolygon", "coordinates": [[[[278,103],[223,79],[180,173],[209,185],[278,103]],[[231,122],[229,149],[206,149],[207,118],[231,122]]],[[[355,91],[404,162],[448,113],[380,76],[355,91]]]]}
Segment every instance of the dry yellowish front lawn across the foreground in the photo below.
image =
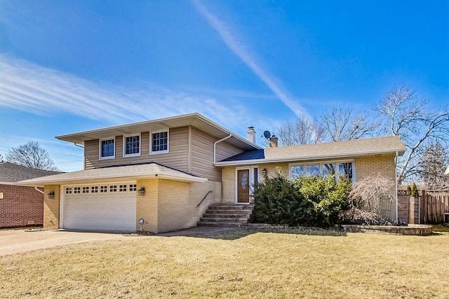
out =
{"type": "Polygon", "coordinates": [[[2,298],[449,298],[449,233],[238,230],[1,258],[2,298]]]}

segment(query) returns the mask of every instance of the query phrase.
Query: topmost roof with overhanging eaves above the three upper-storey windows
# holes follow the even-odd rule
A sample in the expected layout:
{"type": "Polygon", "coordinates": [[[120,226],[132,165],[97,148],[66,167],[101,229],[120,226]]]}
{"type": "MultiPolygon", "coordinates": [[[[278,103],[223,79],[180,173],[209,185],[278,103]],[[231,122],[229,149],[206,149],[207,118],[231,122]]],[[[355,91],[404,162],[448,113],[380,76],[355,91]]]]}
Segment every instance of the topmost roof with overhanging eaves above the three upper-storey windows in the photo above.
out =
{"type": "Polygon", "coordinates": [[[57,139],[69,141],[74,144],[84,144],[84,141],[92,139],[101,139],[111,136],[120,136],[126,134],[138,134],[140,132],[165,130],[173,127],[186,127],[192,125],[193,127],[211,134],[219,139],[232,135],[226,141],[243,151],[251,151],[260,149],[260,146],[253,144],[238,134],[227,130],[225,127],[214,123],[212,120],[202,116],[199,113],[190,113],[182,116],[173,116],[169,118],[160,118],[156,120],[147,120],[140,123],[130,123],[127,125],[116,125],[114,127],[105,127],[97,130],[89,130],[84,132],[77,132],[73,134],[57,136],[57,139]]]}

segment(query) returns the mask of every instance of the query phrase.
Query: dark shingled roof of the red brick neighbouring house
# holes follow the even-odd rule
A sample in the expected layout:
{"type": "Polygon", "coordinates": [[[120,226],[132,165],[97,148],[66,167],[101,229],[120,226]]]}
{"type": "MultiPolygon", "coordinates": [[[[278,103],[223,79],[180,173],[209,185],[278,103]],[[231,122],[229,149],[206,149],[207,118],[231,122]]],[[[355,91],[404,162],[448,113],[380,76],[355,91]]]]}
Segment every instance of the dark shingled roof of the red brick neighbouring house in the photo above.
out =
{"type": "Polygon", "coordinates": [[[34,179],[41,176],[60,174],[61,172],[51,172],[17,165],[11,162],[0,163],[0,183],[9,185],[25,179],[34,179]]]}

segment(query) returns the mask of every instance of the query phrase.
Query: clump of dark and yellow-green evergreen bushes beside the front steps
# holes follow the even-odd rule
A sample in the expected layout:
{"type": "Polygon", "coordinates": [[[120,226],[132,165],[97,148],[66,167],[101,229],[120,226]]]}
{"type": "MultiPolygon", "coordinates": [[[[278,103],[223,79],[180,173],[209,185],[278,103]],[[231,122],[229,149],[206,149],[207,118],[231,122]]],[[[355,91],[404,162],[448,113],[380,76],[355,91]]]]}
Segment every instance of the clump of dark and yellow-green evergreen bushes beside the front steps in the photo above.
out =
{"type": "Polygon", "coordinates": [[[265,177],[254,189],[251,222],[328,227],[337,223],[350,190],[351,182],[343,177],[338,183],[334,176],[307,176],[296,181],[282,174],[265,177]]]}

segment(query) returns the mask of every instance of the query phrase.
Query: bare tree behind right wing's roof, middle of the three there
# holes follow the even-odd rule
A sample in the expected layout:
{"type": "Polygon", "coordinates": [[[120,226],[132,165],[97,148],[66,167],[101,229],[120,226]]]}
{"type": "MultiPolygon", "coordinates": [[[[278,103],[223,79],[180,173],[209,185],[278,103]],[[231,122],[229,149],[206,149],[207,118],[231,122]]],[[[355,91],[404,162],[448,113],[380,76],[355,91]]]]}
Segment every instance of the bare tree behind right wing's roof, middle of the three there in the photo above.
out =
{"type": "Polygon", "coordinates": [[[358,113],[354,116],[350,107],[340,105],[330,111],[323,111],[319,123],[331,141],[373,137],[378,126],[368,120],[366,113],[358,113]]]}

